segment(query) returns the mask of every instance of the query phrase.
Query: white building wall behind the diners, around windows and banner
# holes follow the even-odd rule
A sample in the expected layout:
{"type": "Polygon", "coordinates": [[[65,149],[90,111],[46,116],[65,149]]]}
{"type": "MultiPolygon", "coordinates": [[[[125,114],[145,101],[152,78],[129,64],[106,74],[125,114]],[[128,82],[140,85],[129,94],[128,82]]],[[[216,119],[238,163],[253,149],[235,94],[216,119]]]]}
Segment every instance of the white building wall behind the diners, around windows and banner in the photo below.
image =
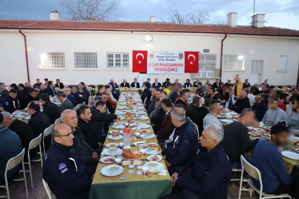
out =
{"type": "MultiPolygon", "coordinates": [[[[0,49],[1,68],[5,74],[0,81],[7,85],[20,83],[27,80],[24,38],[18,30],[0,30],[0,43],[5,48],[0,49]],[[6,67],[4,67],[6,66],[6,67]],[[13,69],[12,69],[13,68],[13,69]],[[13,72],[17,71],[17,72],[13,72]]],[[[99,32],[99,31],[62,31],[62,30],[23,30],[27,38],[28,62],[30,83],[35,79],[49,80],[60,79],[65,85],[78,84],[83,81],[89,84],[107,84],[110,79],[120,84],[123,78],[127,82],[133,82],[138,73],[132,73],[132,50],[182,50],[200,51],[210,49],[209,54],[216,54],[216,69],[220,69],[221,40],[224,34],[197,34],[197,33],[136,33],[136,32],[99,32]],[[145,36],[153,36],[152,42],[145,42],[145,36]],[[42,52],[64,52],[64,69],[42,69],[40,55],[42,52]],[[97,52],[98,69],[74,68],[74,52],[97,52]],[[106,53],[128,52],[129,69],[106,68],[106,53]]],[[[274,37],[273,37],[274,38],[274,37]]],[[[241,75],[241,79],[250,77],[251,60],[264,60],[263,78],[268,78],[270,84],[295,85],[299,63],[298,38],[275,39],[257,38],[250,36],[232,36],[224,41],[223,55],[243,55],[245,70],[223,71],[222,82],[228,78],[233,79],[235,74],[241,75]],[[252,51],[255,50],[255,51],[252,51]],[[255,53],[252,53],[255,52],[255,53]],[[287,55],[288,72],[277,72],[280,55],[287,55]]],[[[217,74],[217,73],[216,73],[217,74]]],[[[147,76],[147,74],[144,74],[147,76]]],[[[151,82],[157,76],[159,82],[170,78],[171,82],[178,78],[184,83],[191,74],[157,74],[148,75],[151,82]]],[[[216,78],[216,77],[215,77],[216,78]]],[[[139,79],[139,78],[138,78],[139,79]]],[[[201,78],[201,82],[205,82],[201,78]]],[[[142,80],[138,80],[142,83],[142,80]]],[[[191,81],[194,81],[191,80],[191,81]]],[[[214,80],[210,80],[214,82],[214,80]]],[[[249,80],[250,82],[250,80],[249,80]]],[[[252,82],[251,82],[252,83],[252,82]]]]}

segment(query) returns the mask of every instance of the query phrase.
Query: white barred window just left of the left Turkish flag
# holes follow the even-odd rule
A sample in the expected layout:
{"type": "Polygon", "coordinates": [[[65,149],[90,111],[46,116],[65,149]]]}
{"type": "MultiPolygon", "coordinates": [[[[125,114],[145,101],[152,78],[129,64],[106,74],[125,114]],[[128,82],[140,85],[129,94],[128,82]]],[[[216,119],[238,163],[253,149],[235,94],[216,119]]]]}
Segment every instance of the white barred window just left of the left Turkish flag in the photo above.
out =
{"type": "Polygon", "coordinates": [[[129,53],[107,53],[107,68],[129,68],[129,53]]]}

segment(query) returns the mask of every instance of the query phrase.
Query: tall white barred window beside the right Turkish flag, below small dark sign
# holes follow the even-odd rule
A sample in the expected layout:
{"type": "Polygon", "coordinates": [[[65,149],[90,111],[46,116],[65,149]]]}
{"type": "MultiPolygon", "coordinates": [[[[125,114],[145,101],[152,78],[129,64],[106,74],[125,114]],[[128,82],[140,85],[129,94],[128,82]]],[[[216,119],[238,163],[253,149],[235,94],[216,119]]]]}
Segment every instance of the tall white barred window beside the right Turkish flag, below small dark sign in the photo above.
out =
{"type": "Polygon", "coordinates": [[[198,73],[195,77],[215,77],[215,54],[199,54],[198,73]]]}

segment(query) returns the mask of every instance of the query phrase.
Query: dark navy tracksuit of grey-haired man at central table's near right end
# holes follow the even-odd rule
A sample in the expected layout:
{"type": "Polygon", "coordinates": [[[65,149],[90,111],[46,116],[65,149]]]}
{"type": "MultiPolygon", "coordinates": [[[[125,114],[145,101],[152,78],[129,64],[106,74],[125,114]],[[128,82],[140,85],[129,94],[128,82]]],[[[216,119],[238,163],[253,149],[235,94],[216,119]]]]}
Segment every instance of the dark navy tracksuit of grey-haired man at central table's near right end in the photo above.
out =
{"type": "Polygon", "coordinates": [[[176,186],[182,188],[183,193],[185,189],[205,199],[226,199],[231,169],[231,162],[219,143],[209,152],[199,152],[184,166],[176,167],[174,170],[179,174],[176,186]],[[184,174],[187,170],[189,176],[184,174]]]}

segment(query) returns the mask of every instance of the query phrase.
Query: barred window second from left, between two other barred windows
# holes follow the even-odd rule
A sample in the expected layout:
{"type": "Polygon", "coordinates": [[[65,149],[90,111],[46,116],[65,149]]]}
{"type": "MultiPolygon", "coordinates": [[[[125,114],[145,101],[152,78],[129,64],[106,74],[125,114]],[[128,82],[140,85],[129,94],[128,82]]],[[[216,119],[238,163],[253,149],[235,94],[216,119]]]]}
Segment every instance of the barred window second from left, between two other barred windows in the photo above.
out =
{"type": "Polygon", "coordinates": [[[75,68],[97,68],[97,53],[75,53],[75,68]]]}

